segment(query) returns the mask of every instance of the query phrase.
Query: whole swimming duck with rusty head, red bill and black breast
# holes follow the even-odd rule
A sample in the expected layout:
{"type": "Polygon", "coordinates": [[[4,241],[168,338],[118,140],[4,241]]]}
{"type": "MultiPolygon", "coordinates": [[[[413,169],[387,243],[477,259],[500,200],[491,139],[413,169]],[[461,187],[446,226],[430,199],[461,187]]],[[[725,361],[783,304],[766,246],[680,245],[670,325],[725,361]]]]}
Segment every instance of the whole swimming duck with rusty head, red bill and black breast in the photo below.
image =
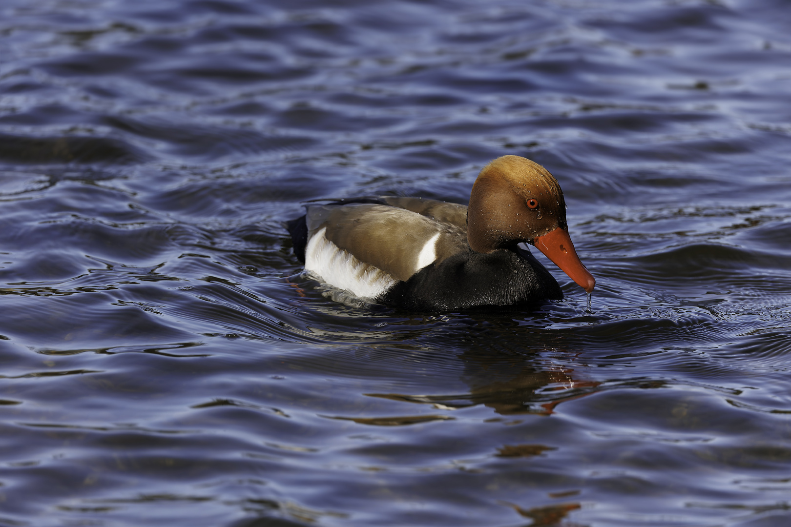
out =
{"type": "Polygon", "coordinates": [[[563,299],[536,247],[585,292],[566,201],[546,168],[521,156],[486,164],[469,205],[379,196],[308,204],[286,222],[305,271],[355,297],[408,311],[504,307],[563,299]]]}

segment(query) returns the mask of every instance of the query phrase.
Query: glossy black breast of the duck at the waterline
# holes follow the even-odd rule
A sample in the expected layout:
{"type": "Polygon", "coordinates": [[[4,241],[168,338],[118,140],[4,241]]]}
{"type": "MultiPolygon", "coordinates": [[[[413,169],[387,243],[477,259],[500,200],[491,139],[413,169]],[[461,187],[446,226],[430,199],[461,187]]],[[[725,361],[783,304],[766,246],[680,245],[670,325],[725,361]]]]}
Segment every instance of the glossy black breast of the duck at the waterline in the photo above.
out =
{"type": "Polygon", "coordinates": [[[410,311],[447,311],[562,298],[558,281],[529,251],[517,248],[455,254],[398,282],[379,300],[410,311]]]}

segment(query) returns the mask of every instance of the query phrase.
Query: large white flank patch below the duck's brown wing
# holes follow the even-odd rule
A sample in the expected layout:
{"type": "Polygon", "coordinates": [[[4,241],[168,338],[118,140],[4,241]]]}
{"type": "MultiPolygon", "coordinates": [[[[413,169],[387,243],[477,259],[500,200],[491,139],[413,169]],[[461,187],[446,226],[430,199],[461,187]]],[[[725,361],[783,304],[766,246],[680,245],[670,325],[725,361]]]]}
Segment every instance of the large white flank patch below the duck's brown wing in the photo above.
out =
{"type": "MultiPolygon", "coordinates": [[[[350,252],[339,249],[324,237],[325,232],[327,228],[316,232],[305,247],[305,269],[321,277],[325,283],[346,289],[360,298],[373,299],[398,281],[383,270],[360,262],[350,252]]],[[[433,246],[431,251],[433,254],[433,246]]]]}

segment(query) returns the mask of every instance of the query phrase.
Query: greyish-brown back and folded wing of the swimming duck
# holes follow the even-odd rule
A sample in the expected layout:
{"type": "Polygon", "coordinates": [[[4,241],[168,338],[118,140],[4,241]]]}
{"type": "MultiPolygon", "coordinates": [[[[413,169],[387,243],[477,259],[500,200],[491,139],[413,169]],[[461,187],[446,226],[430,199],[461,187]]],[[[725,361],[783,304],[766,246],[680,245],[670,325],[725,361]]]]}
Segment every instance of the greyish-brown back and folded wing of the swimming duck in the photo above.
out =
{"type": "Polygon", "coordinates": [[[426,265],[420,262],[420,254],[435,235],[435,262],[467,250],[467,234],[457,225],[397,206],[312,206],[308,207],[307,224],[308,237],[327,228],[324,236],[337,247],[398,280],[408,280],[426,265]]]}

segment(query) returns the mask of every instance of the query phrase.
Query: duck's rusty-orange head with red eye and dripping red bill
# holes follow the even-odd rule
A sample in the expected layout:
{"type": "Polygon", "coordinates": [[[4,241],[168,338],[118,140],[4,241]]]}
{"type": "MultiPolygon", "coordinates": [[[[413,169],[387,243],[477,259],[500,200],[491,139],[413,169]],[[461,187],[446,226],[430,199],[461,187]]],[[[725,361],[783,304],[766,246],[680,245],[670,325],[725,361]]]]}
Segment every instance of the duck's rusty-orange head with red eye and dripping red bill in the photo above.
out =
{"type": "Polygon", "coordinates": [[[571,243],[558,180],[524,157],[498,157],[475,179],[467,209],[467,242],[479,253],[530,243],[586,292],[596,285],[571,243]]]}

